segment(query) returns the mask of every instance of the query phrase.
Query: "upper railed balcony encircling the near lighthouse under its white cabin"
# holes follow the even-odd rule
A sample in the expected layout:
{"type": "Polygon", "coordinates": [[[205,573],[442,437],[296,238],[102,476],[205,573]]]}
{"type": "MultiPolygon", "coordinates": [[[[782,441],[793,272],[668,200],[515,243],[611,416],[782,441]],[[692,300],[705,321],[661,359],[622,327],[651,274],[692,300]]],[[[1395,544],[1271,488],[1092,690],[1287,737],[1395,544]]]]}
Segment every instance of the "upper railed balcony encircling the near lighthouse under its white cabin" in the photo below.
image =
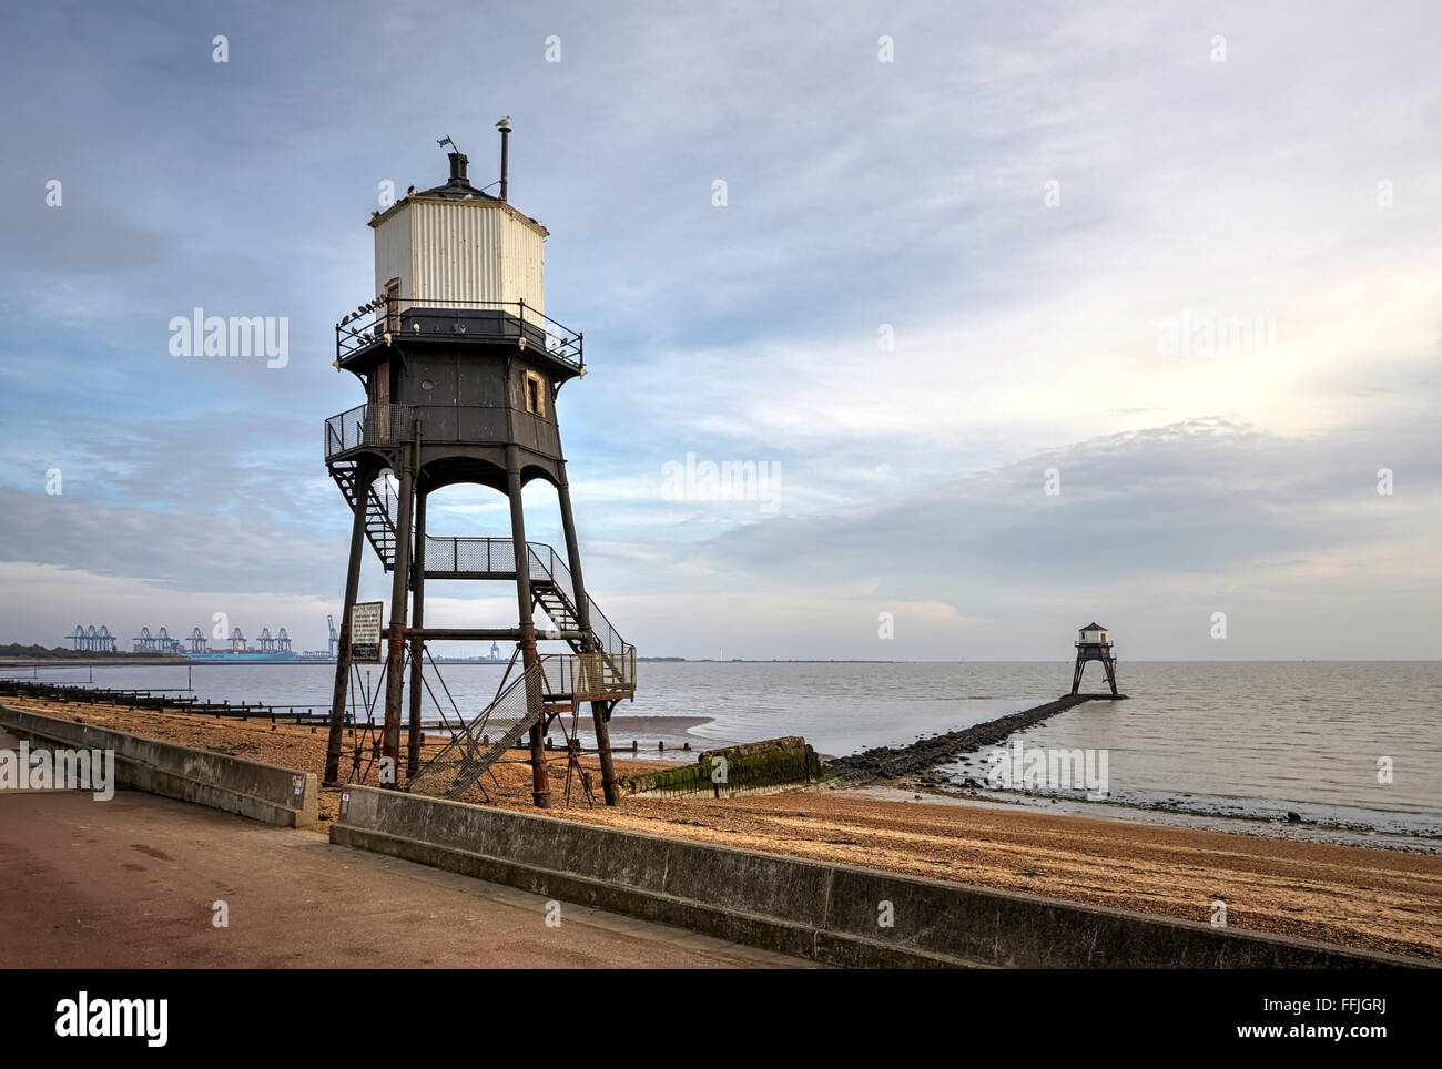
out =
{"type": "Polygon", "coordinates": [[[522,301],[378,297],[336,324],[336,364],[345,367],[386,344],[521,344],[554,360],[558,370],[584,373],[581,333],[522,301]]]}

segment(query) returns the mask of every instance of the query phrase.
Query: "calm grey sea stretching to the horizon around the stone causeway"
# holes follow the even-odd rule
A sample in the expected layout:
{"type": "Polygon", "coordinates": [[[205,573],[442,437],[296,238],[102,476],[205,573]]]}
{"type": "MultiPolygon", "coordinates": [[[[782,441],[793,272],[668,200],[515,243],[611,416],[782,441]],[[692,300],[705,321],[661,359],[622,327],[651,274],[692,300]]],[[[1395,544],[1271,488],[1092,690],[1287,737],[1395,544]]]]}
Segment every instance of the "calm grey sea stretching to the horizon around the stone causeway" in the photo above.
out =
{"type": "MultiPolygon", "coordinates": [[[[485,706],[502,676],[487,664],[440,671],[466,716],[485,706]]],[[[665,742],[669,752],[684,742],[701,749],[805,735],[822,753],[848,753],[1040,705],[1070,686],[1070,663],[647,661],[639,666],[636,702],[616,710],[613,743],[630,748],[637,739],[655,751],[665,742]]],[[[85,681],[88,670],[40,676],[85,681]]],[[[183,689],[186,668],[104,667],[94,679],[183,689]]],[[[208,700],[320,707],[335,667],[199,664],[192,679],[208,700]]],[[[1099,679],[1089,676],[1089,687],[1099,679]]],[[[1260,820],[1295,811],[1325,827],[1442,837],[1442,663],[1139,661],[1123,663],[1119,681],[1129,702],[1089,702],[1017,736],[1027,746],[1107,751],[1110,794],[1097,805],[1260,820]],[[1377,782],[1379,758],[1392,758],[1393,782],[1377,782]]],[[[978,769],[959,762],[942,771],[960,779],[978,769]]]]}

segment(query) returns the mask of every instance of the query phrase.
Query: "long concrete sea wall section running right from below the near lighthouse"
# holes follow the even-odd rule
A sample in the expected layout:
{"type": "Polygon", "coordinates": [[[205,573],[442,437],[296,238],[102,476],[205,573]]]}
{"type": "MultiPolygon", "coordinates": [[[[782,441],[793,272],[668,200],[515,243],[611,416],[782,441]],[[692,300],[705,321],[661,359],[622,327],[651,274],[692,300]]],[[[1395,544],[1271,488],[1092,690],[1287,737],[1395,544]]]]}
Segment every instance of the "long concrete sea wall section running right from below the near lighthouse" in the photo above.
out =
{"type": "Polygon", "coordinates": [[[861,968],[1386,968],[1206,923],[348,787],[330,841],[861,968]]]}

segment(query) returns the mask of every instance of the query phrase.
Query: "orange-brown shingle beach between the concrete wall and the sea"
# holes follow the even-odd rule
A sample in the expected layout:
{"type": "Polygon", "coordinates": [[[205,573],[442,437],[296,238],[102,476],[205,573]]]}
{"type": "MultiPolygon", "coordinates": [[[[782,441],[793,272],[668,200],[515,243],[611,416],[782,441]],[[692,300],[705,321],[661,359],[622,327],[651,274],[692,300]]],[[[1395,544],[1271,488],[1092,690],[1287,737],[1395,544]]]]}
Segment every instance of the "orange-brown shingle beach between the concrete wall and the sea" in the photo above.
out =
{"type": "MultiPolygon", "coordinates": [[[[23,697],[6,703],[317,774],[324,758],[323,730],[273,728],[268,720],[23,697]]],[[[349,738],[346,743],[353,745],[349,738]]],[[[594,769],[596,761],[585,758],[584,765],[594,769]]],[[[616,765],[622,775],[665,766],[626,758],[616,765]]],[[[549,769],[552,795],[561,804],[564,752],[551,753],[549,769]]],[[[493,804],[536,813],[523,751],[497,764],[483,785],[493,804]]],[[[479,790],[466,797],[483,800],[479,790]]],[[[322,791],[324,818],[335,817],[339,791],[322,791]]],[[[626,798],[607,810],[588,807],[574,784],[571,805],[549,814],[1190,921],[1208,921],[1213,903],[1221,900],[1231,926],[1442,958],[1442,857],[1430,854],[1008,805],[956,805],[924,794],[867,788],[820,787],[720,801],[626,798]]]]}

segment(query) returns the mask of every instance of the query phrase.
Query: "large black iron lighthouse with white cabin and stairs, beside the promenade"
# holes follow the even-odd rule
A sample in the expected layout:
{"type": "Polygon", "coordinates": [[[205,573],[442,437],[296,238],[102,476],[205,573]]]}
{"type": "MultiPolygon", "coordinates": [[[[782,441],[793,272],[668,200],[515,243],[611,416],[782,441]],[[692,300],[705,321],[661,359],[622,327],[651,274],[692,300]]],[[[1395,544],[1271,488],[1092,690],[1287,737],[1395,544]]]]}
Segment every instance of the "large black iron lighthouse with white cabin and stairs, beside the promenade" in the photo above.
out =
{"type": "Polygon", "coordinates": [[[466,156],[451,151],[444,184],[411,187],[373,213],[376,295],[336,326],[336,367],[356,376],[365,402],[332,416],[324,428],[326,467],[353,511],[324,778],[339,782],[352,615],[369,542],[391,573],[381,784],[402,787],[408,674],[405,790],[459,797],[529,735],[534,800],[549,805],[547,729],[588,705],[606,801],[614,805],[607,722],[619,700],[634,696],[636,648],[585,592],[555,411],[561,388],[585,375],[583,337],[545,314],[548,231],[509,203],[510,128],[497,125],[499,196],[473,187],[466,156]],[[555,490],[565,537],[561,552],[526,540],[521,491],[535,480],[555,490]],[[503,494],[509,532],[431,534],[427,497],[456,484],[503,494]],[[428,582],[453,579],[513,583],[515,624],[427,627],[428,582]],[[538,614],[548,627],[536,625],[538,614]],[[463,730],[453,730],[441,753],[423,761],[423,692],[434,699],[423,677],[431,640],[509,640],[516,653],[496,697],[467,710],[463,730]],[[542,643],[559,644],[561,653],[542,653],[542,643]]]}

